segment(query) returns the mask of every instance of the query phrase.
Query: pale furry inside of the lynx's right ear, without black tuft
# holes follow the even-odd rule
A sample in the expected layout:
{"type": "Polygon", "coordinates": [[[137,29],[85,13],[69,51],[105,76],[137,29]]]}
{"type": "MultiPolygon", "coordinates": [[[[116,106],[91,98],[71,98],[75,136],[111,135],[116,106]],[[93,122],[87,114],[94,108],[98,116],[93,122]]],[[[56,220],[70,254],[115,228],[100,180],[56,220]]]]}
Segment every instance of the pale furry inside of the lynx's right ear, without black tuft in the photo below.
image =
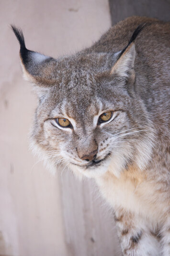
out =
{"type": "Polygon", "coordinates": [[[134,68],[135,55],[135,44],[131,43],[114,64],[111,75],[115,74],[118,77],[127,78],[134,68]]]}

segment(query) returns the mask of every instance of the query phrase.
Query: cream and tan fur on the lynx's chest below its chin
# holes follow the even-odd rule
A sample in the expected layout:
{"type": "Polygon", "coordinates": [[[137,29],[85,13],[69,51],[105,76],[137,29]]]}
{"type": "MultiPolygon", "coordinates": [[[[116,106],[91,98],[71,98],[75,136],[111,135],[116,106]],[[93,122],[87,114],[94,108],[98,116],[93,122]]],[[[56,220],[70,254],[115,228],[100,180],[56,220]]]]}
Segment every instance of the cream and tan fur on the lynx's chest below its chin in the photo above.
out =
{"type": "Polygon", "coordinates": [[[154,184],[141,177],[128,177],[127,172],[120,178],[106,173],[96,179],[103,197],[113,208],[121,207],[157,221],[162,215],[164,205],[154,184]]]}

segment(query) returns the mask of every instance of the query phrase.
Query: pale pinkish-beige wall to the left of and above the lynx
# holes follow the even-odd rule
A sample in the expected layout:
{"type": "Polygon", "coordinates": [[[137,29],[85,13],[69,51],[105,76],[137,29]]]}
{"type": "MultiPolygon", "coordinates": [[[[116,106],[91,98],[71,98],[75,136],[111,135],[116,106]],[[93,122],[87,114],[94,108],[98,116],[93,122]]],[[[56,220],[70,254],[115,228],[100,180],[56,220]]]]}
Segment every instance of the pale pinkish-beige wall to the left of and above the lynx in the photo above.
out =
{"type": "Polygon", "coordinates": [[[28,150],[36,98],[22,78],[11,23],[22,27],[28,49],[58,57],[90,45],[109,28],[109,5],[107,0],[0,0],[0,255],[66,256],[67,214],[64,188],[59,189],[64,182],[42,162],[35,164],[38,159],[28,150]]]}

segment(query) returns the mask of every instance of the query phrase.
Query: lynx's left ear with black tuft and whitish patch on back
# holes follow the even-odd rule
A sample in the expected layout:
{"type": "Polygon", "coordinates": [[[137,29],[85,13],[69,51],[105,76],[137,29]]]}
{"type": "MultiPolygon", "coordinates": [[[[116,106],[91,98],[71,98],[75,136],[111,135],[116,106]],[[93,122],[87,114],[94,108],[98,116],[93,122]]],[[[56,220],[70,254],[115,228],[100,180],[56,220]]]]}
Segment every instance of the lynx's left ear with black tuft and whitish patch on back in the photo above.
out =
{"type": "Polygon", "coordinates": [[[24,77],[42,89],[55,84],[54,71],[57,60],[25,47],[23,32],[20,28],[11,25],[12,30],[20,43],[20,58],[24,77]]]}

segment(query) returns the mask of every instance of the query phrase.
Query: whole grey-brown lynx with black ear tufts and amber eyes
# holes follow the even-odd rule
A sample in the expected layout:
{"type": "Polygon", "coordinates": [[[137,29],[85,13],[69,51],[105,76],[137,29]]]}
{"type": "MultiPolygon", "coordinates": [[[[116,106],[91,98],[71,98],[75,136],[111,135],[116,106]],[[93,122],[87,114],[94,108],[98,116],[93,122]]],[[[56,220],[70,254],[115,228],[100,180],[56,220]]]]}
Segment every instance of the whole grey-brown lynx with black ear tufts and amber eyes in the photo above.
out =
{"type": "Polygon", "coordinates": [[[39,99],[34,151],[96,180],[124,256],[170,256],[170,24],[129,17],[58,59],[12,29],[39,99]]]}

